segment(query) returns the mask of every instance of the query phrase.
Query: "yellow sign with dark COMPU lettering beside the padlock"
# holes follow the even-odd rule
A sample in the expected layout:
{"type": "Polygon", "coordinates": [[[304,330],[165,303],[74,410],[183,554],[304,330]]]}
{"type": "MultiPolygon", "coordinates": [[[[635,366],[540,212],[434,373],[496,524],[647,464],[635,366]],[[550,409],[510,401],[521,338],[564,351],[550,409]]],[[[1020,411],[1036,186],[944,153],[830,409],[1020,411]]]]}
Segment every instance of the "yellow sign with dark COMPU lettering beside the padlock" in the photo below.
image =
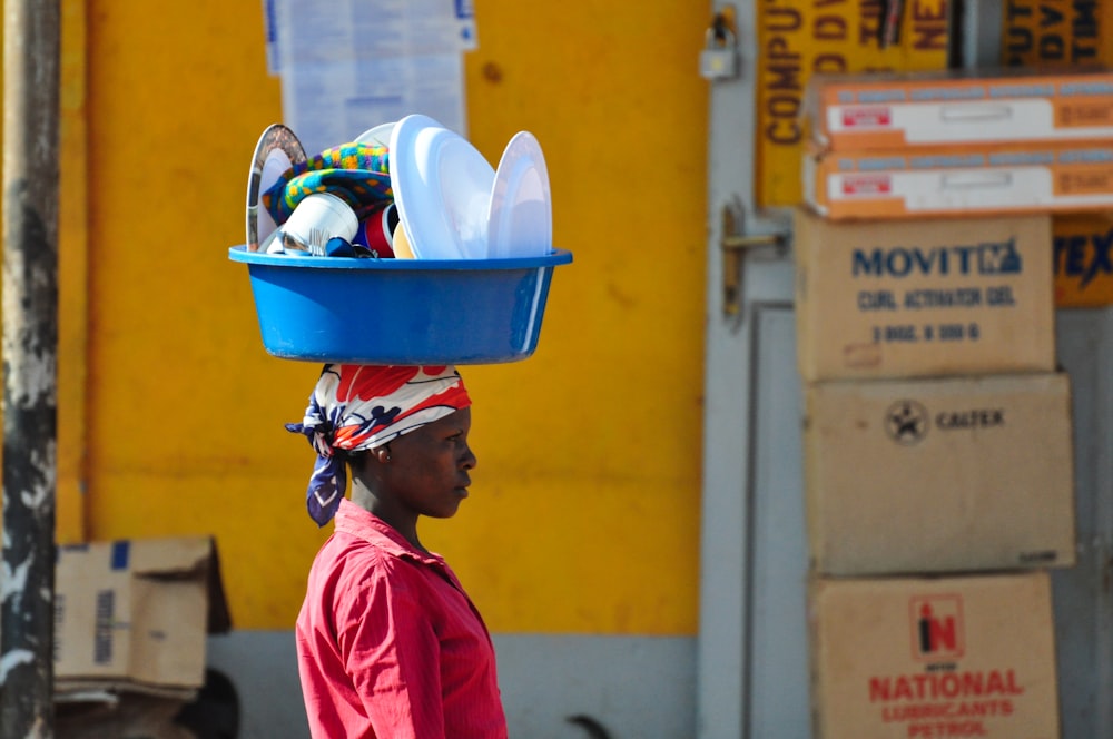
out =
{"type": "Polygon", "coordinates": [[[800,158],[807,142],[801,106],[812,73],[946,68],[948,0],[900,2],[899,32],[883,46],[886,4],[881,0],[758,0],[754,189],[759,207],[800,203],[800,158]]]}

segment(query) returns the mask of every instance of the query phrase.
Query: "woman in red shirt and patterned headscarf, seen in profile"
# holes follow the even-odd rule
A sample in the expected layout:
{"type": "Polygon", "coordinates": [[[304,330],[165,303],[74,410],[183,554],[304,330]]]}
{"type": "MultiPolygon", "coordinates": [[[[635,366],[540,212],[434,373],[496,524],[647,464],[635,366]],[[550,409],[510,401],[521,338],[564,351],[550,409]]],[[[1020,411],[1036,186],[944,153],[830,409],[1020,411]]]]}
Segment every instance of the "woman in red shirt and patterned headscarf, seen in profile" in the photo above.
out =
{"type": "Polygon", "coordinates": [[[417,538],[420,516],[452,516],[467,496],[470,427],[454,367],[347,364],[325,366],[287,425],[317,452],[309,515],[336,519],[296,628],[315,739],[506,736],[486,627],[417,538]]]}

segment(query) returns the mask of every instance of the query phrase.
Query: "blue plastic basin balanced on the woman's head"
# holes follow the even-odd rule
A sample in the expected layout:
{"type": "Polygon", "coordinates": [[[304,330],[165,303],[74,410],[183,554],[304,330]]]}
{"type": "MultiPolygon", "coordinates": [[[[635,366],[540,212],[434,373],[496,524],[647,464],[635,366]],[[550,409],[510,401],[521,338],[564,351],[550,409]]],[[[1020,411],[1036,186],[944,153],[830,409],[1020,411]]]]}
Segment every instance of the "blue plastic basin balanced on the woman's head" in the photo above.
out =
{"type": "Polygon", "coordinates": [[[228,249],[247,265],[266,351],[358,364],[498,364],[533,354],[556,249],[515,259],[370,259],[228,249]]]}

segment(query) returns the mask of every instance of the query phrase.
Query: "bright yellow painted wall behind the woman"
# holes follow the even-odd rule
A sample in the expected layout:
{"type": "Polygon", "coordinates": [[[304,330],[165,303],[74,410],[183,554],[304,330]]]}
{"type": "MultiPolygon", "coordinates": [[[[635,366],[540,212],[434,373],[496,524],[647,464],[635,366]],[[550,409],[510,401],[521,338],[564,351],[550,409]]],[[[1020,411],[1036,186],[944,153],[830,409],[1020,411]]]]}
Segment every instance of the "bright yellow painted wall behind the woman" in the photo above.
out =
{"type": "MultiPolygon", "coordinates": [[[[493,631],[695,633],[708,11],[475,13],[469,138],[496,162],[515,131],[538,136],[555,243],[575,262],[531,359],[463,367],[473,494],[423,523],[424,541],[493,631]]],[[[88,346],[61,357],[63,377],[87,373],[86,412],[61,423],[83,431],[87,454],[70,454],[87,500],[75,513],[81,496],[60,495],[60,521],[78,519],[61,535],[211,532],[236,625],[289,628],[327,529],[304,510],[312,452],[283,423],[318,366],[264,352],[227,259],[255,142],[282,120],[260,3],[89,0],[86,23],[88,346]]]]}

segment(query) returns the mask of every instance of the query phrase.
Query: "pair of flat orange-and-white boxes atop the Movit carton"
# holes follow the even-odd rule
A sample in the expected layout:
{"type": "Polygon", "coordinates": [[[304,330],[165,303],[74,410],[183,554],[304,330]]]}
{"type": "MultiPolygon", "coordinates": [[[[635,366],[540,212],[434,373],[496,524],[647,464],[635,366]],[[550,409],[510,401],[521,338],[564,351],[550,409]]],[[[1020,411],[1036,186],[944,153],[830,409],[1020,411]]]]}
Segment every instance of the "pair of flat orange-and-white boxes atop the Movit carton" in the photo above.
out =
{"type": "Polygon", "coordinates": [[[820,76],[806,109],[829,218],[1113,207],[1113,72],[820,76]]]}

